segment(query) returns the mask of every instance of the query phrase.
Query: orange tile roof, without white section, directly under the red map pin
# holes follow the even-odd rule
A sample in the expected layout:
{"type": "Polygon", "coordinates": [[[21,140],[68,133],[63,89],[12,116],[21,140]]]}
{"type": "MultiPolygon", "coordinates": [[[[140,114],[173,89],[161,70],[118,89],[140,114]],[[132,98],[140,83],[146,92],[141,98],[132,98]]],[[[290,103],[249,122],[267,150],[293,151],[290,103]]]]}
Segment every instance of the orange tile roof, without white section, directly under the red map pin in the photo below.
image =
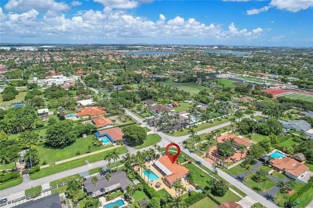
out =
{"type": "Polygon", "coordinates": [[[180,166],[179,163],[175,162],[172,164],[168,156],[162,156],[157,159],[157,161],[159,161],[163,166],[172,172],[172,174],[164,176],[164,178],[166,178],[170,183],[177,181],[179,178],[183,177],[189,172],[186,167],[180,166]]]}

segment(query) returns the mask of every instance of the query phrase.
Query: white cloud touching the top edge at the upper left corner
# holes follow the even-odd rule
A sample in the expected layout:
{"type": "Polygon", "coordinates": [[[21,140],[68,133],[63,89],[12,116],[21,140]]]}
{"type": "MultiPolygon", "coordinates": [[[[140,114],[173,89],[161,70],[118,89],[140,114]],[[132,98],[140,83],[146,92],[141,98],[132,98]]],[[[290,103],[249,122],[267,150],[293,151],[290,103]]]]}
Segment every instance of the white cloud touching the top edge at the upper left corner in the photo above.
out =
{"type": "Polygon", "coordinates": [[[26,12],[31,9],[37,11],[66,11],[70,7],[65,2],[56,2],[54,0],[9,0],[4,8],[8,11],[26,12]]]}

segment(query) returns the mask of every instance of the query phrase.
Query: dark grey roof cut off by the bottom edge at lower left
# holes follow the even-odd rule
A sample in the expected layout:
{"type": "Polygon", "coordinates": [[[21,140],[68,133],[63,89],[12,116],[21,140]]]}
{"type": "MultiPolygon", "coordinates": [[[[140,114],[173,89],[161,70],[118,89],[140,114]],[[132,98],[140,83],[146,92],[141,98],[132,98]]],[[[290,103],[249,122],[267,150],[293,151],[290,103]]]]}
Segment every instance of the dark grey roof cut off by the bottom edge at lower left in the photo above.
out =
{"type": "Polygon", "coordinates": [[[40,199],[22,203],[13,208],[63,208],[59,193],[53,193],[40,199]]]}

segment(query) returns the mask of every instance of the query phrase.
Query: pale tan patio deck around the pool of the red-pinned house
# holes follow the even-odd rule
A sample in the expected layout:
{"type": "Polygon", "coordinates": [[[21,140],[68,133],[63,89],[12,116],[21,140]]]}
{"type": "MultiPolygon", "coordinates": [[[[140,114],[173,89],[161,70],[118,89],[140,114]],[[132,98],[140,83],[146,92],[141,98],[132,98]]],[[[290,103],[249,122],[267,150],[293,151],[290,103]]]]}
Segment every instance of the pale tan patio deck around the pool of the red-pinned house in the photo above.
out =
{"type": "MultiPolygon", "coordinates": [[[[156,174],[156,176],[158,177],[158,179],[157,179],[157,180],[154,180],[153,182],[150,182],[150,181],[148,181],[148,177],[147,177],[147,176],[145,177],[145,174],[142,172],[142,170],[140,170],[142,174],[140,174],[140,171],[137,170],[137,172],[138,172],[138,174],[141,176],[141,178],[144,179],[144,180],[149,184],[150,187],[153,187],[154,189],[156,189],[156,191],[161,190],[161,189],[164,188],[169,194],[171,194],[173,197],[176,197],[178,193],[175,191],[174,188],[169,188],[169,187],[167,187],[167,186],[163,183],[163,180],[162,180],[162,179],[163,179],[163,175],[162,175],[158,170],[156,170],[156,168],[155,168],[154,166],[152,166],[152,165],[153,165],[153,162],[145,163],[145,165],[147,166],[147,168],[150,168],[150,169],[156,174]],[[160,187],[156,187],[156,183],[157,183],[157,182],[160,182],[160,183],[161,183],[161,186],[160,186],[160,187]]],[[[136,168],[136,169],[137,169],[137,168],[136,168]]],[[[183,184],[183,186],[186,188],[187,191],[188,191],[188,189],[189,189],[190,187],[193,187],[193,186],[192,186],[191,184],[189,184],[187,181],[185,181],[185,180],[181,180],[181,181],[182,181],[182,184],[183,184]]],[[[180,195],[182,195],[182,194],[184,194],[184,193],[186,193],[186,191],[184,191],[184,192],[181,193],[180,195]]]]}

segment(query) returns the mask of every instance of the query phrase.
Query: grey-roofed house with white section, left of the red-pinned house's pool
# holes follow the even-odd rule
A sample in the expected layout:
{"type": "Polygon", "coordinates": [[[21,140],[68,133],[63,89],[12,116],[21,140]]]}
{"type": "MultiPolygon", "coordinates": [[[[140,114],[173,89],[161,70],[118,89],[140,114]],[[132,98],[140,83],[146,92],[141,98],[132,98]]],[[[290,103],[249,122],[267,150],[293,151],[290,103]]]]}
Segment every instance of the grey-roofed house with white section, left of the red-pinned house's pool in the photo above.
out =
{"type": "Polygon", "coordinates": [[[97,176],[98,182],[94,184],[91,182],[92,177],[84,182],[84,188],[92,197],[105,195],[115,191],[125,191],[127,185],[134,186],[134,183],[129,180],[125,171],[119,170],[111,173],[110,184],[109,181],[103,176],[97,176]],[[110,186],[109,186],[110,185],[110,186]],[[95,190],[95,192],[94,192],[95,190]]]}

